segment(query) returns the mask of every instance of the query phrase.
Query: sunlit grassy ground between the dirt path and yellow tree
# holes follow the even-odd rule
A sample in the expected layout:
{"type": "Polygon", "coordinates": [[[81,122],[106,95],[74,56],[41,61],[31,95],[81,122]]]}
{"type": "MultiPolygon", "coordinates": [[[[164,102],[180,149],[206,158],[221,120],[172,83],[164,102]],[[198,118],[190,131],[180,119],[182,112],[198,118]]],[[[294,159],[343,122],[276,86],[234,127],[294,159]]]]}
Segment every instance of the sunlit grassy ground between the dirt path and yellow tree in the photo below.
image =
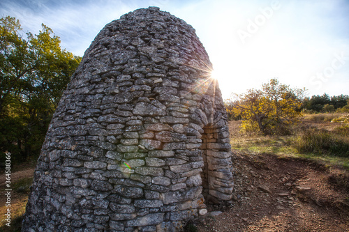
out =
{"type": "Polygon", "coordinates": [[[241,134],[241,121],[230,121],[230,144],[233,150],[246,154],[252,152],[301,157],[349,169],[348,124],[331,122],[340,116],[343,114],[305,115],[301,123],[294,127],[294,134],[288,136],[241,134]]]}

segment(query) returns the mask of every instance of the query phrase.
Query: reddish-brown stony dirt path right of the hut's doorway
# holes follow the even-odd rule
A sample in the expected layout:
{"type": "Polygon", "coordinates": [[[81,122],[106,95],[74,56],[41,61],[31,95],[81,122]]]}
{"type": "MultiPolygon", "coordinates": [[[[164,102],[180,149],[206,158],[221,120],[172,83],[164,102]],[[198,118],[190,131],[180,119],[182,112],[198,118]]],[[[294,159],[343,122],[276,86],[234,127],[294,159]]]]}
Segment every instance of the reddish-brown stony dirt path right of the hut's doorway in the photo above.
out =
{"type": "Polygon", "coordinates": [[[267,154],[238,153],[234,165],[235,201],[209,206],[222,213],[198,219],[198,231],[349,231],[349,178],[340,169],[267,154]]]}

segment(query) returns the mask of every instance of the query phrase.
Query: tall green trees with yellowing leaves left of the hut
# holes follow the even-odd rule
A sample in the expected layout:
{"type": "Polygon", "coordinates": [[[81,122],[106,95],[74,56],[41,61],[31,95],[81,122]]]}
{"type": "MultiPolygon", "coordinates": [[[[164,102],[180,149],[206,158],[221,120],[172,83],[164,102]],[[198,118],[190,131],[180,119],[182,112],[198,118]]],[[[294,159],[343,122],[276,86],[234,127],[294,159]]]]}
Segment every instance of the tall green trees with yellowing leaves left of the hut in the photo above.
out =
{"type": "Polygon", "coordinates": [[[38,155],[52,114],[80,63],[60,42],[44,24],[33,35],[23,33],[13,17],[0,20],[0,147],[15,160],[38,155]]]}

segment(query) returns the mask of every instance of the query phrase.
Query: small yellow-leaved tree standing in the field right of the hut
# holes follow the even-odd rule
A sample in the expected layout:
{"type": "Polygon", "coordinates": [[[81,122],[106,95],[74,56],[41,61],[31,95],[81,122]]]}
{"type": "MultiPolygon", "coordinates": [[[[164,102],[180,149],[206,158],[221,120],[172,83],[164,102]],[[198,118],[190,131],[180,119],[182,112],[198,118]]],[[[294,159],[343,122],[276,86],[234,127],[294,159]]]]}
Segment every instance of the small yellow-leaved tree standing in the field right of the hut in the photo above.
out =
{"type": "Polygon", "coordinates": [[[262,90],[250,89],[237,95],[233,114],[242,116],[242,130],[263,134],[289,134],[297,123],[305,89],[290,88],[278,79],[262,84],[262,90]]]}

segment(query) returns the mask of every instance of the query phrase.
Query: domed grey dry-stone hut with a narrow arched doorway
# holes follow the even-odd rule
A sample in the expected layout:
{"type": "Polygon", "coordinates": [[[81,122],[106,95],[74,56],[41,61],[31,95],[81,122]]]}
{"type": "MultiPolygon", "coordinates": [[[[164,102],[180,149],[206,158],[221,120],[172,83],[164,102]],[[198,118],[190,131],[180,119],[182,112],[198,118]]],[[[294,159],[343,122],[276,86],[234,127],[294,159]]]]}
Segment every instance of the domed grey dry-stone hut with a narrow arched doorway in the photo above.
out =
{"type": "Polygon", "coordinates": [[[195,30],[156,7],[107,24],[64,92],[22,231],[180,231],[232,198],[227,115],[195,30]]]}

